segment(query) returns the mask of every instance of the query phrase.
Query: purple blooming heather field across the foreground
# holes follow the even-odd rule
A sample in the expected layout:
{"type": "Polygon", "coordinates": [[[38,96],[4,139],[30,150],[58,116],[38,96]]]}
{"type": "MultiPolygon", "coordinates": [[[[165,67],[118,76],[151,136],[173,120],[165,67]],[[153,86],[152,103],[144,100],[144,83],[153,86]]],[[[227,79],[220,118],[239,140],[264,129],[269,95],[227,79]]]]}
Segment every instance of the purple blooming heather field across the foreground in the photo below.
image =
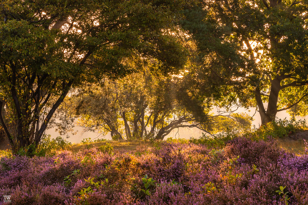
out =
{"type": "MultiPolygon", "coordinates": [[[[308,204],[308,156],[245,138],[223,150],[193,143],[1,159],[11,204],[308,204]]],[[[0,204],[3,202],[3,197],[0,204]]]]}

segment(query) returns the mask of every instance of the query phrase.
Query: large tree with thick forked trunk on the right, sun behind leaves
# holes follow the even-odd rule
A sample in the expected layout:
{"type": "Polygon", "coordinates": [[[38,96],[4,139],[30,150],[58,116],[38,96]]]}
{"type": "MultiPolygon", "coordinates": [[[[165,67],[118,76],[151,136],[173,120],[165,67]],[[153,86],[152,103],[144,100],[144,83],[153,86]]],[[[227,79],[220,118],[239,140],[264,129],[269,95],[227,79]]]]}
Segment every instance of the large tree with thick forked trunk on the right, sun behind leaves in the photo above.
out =
{"type": "Polygon", "coordinates": [[[307,3],[204,0],[187,9],[182,27],[200,54],[196,83],[214,90],[218,106],[257,107],[262,124],[307,102],[307,3]]]}

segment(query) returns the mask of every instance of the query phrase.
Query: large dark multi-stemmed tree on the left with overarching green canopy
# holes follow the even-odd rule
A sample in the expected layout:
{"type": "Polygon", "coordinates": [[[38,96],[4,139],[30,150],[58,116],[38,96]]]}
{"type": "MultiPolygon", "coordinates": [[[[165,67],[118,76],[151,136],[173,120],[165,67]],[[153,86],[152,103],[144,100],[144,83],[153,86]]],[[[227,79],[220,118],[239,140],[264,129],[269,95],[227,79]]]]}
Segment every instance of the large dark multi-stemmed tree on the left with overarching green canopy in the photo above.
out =
{"type": "Polygon", "coordinates": [[[168,29],[181,1],[31,1],[0,3],[0,121],[14,152],[37,146],[70,89],[132,72],[127,62],[184,63],[168,29]],[[7,121],[8,119],[8,121],[7,121]]]}

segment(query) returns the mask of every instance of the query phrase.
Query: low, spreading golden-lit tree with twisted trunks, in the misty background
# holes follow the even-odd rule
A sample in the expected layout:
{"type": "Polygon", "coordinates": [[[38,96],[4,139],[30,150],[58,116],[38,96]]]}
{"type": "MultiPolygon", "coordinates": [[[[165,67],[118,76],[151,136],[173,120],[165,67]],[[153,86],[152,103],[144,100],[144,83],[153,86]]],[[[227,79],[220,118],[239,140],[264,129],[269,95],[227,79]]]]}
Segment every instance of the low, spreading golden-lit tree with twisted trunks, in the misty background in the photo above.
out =
{"type": "MultiPolygon", "coordinates": [[[[180,90],[173,78],[176,77],[149,70],[117,80],[105,78],[66,98],[59,111],[70,116],[71,113],[65,112],[67,104],[85,131],[110,133],[112,139],[123,139],[125,135],[126,139],[162,140],[171,131],[183,127],[197,127],[208,134],[250,129],[247,116],[239,114],[207,114],[207,120],[197,121],[177,99],[180,90]]],[[[59,124],[62,127],[67,123],[59,124]]]]}

